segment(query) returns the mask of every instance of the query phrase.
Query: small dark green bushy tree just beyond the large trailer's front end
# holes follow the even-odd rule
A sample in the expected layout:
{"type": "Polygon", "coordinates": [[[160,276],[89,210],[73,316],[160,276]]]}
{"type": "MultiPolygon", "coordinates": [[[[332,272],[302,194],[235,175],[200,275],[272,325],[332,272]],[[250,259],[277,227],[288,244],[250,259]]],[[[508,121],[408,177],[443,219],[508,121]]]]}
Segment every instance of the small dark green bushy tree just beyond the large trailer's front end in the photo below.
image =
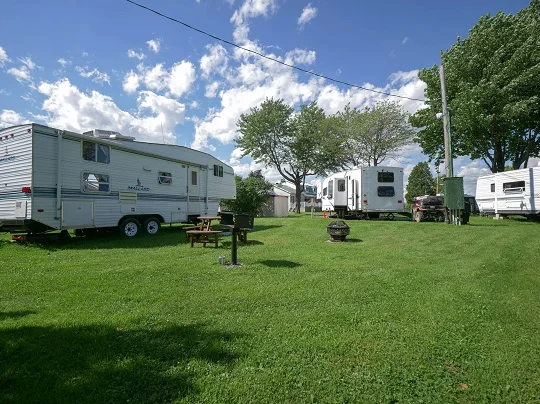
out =
{"type": "Polygon", "coordinates": [[[235,177],[236,199],[221,202],[223,211],[251,213],[257,215],[272,195],[273,185],[260,172],[252,172],[249,177],[235,177]]]}

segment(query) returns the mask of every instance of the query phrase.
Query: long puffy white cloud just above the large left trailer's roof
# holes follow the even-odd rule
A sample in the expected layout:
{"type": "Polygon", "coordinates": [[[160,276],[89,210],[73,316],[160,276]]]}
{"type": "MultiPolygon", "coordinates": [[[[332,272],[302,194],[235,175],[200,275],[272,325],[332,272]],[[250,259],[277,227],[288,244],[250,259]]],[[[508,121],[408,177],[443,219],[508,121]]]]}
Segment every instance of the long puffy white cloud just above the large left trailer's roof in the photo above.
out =
{"type": "Polygon", "coordinates": [[[111,129],[138,140],[161,143],[163,126],[166,142],[174,143],[174,128],[184,122],[184,104],[151,91],[139,93],[138,109],[132,114],[120,109],[111,97],[80,91],[67,78],[42,82],[38,90],[46,97],[42,106],[46,123],[75,132],[111,129]]]}

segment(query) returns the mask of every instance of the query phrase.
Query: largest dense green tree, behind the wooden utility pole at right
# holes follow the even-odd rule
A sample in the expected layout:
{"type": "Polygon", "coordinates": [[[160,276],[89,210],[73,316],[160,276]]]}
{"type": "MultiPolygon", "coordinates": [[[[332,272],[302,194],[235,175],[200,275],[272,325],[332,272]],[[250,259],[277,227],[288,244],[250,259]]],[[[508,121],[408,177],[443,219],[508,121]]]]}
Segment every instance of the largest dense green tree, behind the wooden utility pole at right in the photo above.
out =
{"type": "MultiPolygon", "coordinates": [[[[441,57],[454,155],[481,158],[492,172],[526,166],[540,153],[540,0],[516,15],[484,16],[441,57]]],[[[438,66],[423,69],[427,108],[410,118],[430,158],[444,154],[438,66]]]]}

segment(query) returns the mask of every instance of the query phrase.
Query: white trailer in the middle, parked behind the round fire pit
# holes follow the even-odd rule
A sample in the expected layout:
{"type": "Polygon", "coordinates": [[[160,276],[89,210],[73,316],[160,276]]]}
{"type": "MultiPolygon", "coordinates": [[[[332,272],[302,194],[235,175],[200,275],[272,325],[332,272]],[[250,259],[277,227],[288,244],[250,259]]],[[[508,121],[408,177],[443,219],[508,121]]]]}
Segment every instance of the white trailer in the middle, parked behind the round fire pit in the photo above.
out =
{"type": "Polygon", "coordinates": [[[340,217],[353,215],[369,218],[373,214],[404,211],[403,168],[360,167],[325,178],[317,197],[323,211],[336,212],[340,217]]]}

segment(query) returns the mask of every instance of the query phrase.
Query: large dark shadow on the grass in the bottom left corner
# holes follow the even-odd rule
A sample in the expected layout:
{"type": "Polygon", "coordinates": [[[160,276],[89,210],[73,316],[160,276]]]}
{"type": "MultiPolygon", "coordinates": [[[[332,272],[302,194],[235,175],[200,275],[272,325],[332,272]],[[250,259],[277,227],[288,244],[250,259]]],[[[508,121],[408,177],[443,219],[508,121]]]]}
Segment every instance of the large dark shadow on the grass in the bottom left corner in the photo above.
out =
{"type": "Polygon", "coordinates": [[[238,337],[201,324],[0,330],[0,402],[197,401],[195,369],[232,366],[238,337]]]}

